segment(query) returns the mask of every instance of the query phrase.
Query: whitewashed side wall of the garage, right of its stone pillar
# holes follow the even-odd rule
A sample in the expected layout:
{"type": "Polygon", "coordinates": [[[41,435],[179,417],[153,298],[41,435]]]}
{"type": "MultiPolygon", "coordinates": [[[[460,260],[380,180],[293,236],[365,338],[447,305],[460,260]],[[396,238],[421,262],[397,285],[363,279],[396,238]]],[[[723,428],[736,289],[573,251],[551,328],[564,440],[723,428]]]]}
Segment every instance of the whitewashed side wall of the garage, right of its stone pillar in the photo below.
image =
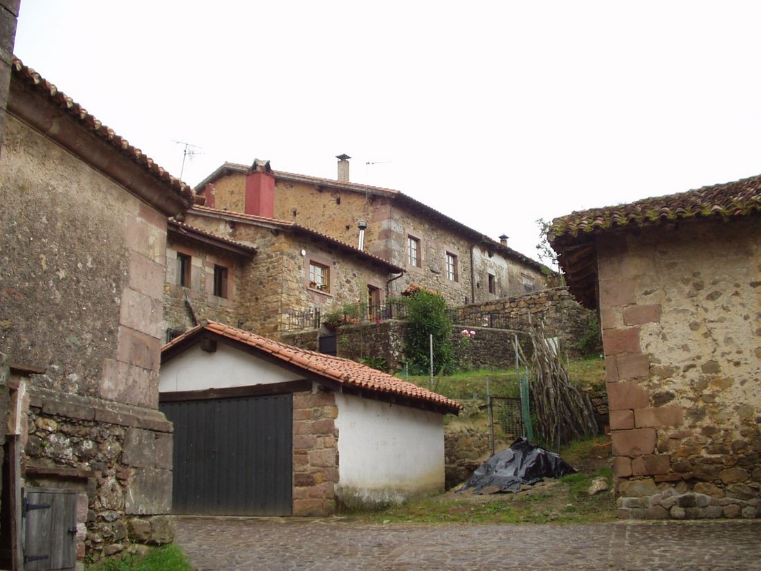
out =
{"type": "Polygon", "coordinates": [[[339,483],[346,506],[444,490],[444,415],[336,394],[339,483]]]}

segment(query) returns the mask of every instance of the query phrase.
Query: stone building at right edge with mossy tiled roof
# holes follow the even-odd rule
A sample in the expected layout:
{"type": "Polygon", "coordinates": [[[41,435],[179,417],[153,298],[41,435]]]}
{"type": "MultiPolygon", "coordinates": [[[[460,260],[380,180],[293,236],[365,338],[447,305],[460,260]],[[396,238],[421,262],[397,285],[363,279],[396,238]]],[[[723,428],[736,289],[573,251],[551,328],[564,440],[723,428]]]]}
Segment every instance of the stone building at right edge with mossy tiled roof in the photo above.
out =
{"type": "Polygon", "coordinates": [[[552,222],[600,311],[622,517],[759,515],[759,213],[753,177],[552,222]]]}

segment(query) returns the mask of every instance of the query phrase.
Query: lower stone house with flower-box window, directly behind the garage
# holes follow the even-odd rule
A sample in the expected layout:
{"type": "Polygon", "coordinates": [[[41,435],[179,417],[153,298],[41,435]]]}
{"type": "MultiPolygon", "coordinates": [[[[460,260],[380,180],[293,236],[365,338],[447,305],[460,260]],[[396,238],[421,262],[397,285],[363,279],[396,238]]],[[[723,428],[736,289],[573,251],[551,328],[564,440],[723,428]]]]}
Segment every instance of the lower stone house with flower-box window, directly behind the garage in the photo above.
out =
{"type": "Polygon", "coordinates": [[[402,273],[387,260],[294,222],[206,206],[193,207],[183,220],[170,223],[167,242],[167,330],[195,324],[187,295],[198,319],[278,337],[295,319],[314,321],[317,311],[358,302],[377,307],[402,273]],[[231,248],[237,253],[222,254],[231,248]],[[215,279],[220,273],[224,287],[215,279]]]}

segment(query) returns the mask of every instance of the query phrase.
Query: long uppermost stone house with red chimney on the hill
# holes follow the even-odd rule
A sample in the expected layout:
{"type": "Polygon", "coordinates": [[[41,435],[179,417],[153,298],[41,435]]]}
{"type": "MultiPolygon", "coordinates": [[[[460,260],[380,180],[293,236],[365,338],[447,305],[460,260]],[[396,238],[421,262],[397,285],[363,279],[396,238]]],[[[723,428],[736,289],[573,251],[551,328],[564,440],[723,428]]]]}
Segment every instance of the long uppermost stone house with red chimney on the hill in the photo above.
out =
{"type": "Polygon", "coordinates": [[[272,171],[269,161],[224,163],[196,193],[215,209],[294,222],[348,244],[361,240],[361,250],[405,271],[391,293],[416,283],[463,305],[544,287],[543,266],[509,248],[506,236],[492,240],[412,196],[351,183],[348,159],[339,156],[337,180],[272,171]]]}

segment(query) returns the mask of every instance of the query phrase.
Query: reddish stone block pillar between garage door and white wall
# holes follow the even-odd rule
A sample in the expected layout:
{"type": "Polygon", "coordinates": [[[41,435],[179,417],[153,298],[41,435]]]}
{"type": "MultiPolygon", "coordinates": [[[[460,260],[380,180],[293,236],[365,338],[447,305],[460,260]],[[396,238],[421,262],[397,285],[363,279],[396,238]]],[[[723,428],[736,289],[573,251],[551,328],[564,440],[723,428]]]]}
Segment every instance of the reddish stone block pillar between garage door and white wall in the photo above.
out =
{"type": "Polygon", "coordinates": [[[332,392],[314,385],[293,394],[293,515],[336,512],[337,417],[332,392]]]}

